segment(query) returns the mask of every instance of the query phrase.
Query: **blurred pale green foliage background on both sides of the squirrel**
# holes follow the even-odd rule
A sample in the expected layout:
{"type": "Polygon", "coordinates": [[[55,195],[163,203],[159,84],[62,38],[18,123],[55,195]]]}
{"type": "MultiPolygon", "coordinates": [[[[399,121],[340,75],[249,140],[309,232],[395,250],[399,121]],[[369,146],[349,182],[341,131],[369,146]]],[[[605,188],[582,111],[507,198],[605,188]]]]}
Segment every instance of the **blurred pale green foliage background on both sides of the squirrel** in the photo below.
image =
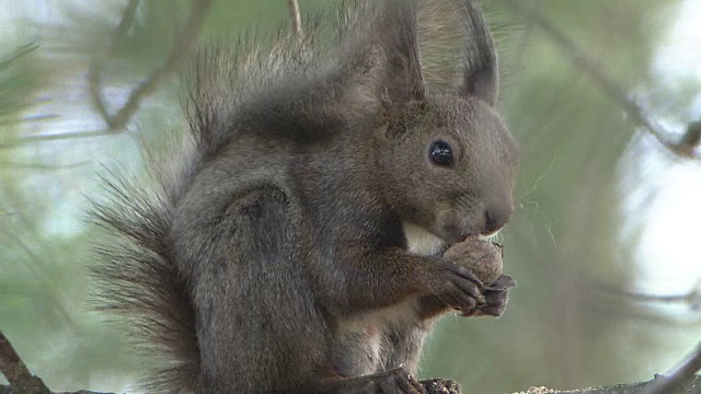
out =
{"type": "MultiPolygon", "coordinates": [[[[689,107],[699,81],[670,79],[659,86],[652,72],[680,1],[529,3],[621,86],[664,92],[648,101],[660,114],[689,119],[679,108],[689,107]]],[[[683,354],[699,324],[611,301],[591,285],[631,281],[635,262],[617,259],[630,258],[632,246],[616,237],[621,213],[614,170],[635,126],[506,0],[484,2],[502,26],[496,32],[506,76],[502,109],[522,147],[518,210],[501,234],[506,270],[519,286],[499,320],[445,317],[426,349],[422,374],[457,378],[466,392],[475,393],[647,380],[683,354]]],[[[44,16],[18,22],[24,26],[20,44],[18,37],[0,36],[4,47],[18,48],[0,54],[0,329],[51,387],[117,391],[148,360],[134,356],[118,329],[89,312],[85,267],[94,234],[82,222],[85,196],[100,196],[95,174],[115,162],[143,171],[137,140],[157,151],[176,140],[172,136],[183,129],[182,91],[171,78],[145,100],[127,131],[101,131],[87,70],[91,59],[105,56],[126,1],[22,3],[15,5],[22,16],[36,16],[35,9],[44,16]],[[36,45],[23,45],[35,38],[36,45]],[[96,132],[57,137],[85,130],[96,132]],[[22,141],[32,136],[41,137],[22,141]],[[65,360],[70,362],[58,362],[65,360]]],[[[286,4],[214,1],[200,40],[234,43],[245,28],[277,28],[289,23],[286,4]]],[[[323,0],[300,5],[309,13],[332,7],[323,0]]],[[[134,25],[106,59],[103,82],[111,105],[118,107],[166,58],[188,10],[185,0],[139,4],[134,25]]]]}

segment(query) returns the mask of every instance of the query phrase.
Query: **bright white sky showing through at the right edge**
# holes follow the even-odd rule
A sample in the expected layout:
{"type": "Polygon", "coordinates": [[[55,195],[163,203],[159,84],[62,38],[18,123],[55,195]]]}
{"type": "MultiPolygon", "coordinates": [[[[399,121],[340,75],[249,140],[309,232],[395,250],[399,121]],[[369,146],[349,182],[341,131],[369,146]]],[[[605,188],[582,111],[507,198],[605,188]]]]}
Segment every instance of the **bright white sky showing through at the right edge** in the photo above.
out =
{"type": "MultiPolygon", "coordinates": [[[[686,0],[678,13],[653,60],[659,86],[701,81],[701,1],[686,0]]],[[[656,94],[656,86],[645,89],[656,94]]],[[[688,121],[701,119],[701,94],[690,107],[675,109],[675,117],[659,120],[670,131],[683,132],[688,121]]],[[[621,190],[625,190],[621,193],[623,220],[629,223],[621,233],[622,244],[640,236],[632,254],[637,263],[634,286],[653,294],[688,293],[701,279],[697,250],[701,241],[701,162],[675,158],[644,130],[640,132],[620,166],[621,190]]]]}

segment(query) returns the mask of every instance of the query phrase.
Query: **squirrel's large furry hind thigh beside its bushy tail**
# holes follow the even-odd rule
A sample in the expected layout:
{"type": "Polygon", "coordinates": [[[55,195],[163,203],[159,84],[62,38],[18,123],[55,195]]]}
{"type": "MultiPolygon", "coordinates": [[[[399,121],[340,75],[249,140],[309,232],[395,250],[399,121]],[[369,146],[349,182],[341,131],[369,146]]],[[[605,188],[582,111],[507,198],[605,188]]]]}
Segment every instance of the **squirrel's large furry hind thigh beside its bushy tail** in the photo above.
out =
{"type": "Polygon", "coordinates": [[[283,189],[235,196],[217,223],[219,262],[195,289],[203,391],[291,393],[315,374],[329,343],[300,267],[303,231],[283,189]]]}

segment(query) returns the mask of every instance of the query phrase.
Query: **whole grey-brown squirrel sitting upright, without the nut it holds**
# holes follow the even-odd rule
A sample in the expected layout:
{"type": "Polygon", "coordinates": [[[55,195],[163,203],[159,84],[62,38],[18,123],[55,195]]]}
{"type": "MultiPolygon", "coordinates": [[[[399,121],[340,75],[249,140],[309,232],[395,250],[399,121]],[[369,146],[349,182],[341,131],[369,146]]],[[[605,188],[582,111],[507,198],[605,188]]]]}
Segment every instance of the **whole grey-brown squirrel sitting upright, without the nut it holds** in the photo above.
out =
{"type": "Polygon", "coordinates": [[[152,391],[426,393],[435,317],[504,310],[510,277],[440,253],[513,211],[481,10],[355,2],[325,28],[200,53],[187,149],[95,210],[105,308],[166,361],[152,391]]]}

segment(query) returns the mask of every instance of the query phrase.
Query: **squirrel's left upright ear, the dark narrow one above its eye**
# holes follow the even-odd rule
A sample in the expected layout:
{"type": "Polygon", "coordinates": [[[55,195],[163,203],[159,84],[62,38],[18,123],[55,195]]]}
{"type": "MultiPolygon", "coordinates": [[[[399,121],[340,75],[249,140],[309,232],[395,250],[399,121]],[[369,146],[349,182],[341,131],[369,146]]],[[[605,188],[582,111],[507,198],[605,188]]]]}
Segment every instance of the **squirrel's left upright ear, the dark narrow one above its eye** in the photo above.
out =
{"type": "Polygon", "coordinates": [[[371,34],[378,40],[376,78],[382,104],[404,107],[422,102],[425,89],[414,1],[386,0],[377,23],[379,28],[371,34]]]}

